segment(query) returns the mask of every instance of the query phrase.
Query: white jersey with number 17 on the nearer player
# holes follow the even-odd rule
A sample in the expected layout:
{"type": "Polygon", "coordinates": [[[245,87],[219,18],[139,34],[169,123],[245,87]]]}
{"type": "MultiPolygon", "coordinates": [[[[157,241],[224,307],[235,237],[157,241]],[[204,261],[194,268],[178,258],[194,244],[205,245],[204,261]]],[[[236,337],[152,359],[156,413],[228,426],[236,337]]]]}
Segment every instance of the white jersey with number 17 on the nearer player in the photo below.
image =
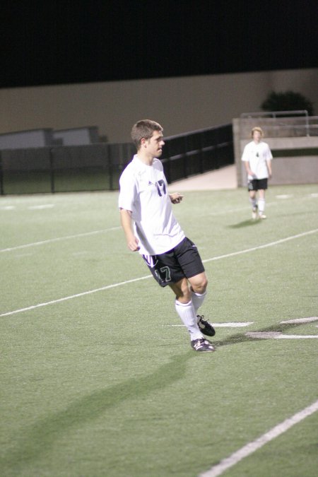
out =
{"type": "Polygon", "coordinates": [[[172,213],[167,180],[159,159],[146,165],[134,155],[122,172],[119,187],[119,208],[132,212],[139,253],[163,254],[184,239],[184,232],[172,213]]]}

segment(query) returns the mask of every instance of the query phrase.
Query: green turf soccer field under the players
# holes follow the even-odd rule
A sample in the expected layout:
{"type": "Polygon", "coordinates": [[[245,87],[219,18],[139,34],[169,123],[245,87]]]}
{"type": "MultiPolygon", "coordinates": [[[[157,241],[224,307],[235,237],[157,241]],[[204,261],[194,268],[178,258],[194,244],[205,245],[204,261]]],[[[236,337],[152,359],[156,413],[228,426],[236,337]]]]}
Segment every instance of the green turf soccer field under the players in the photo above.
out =
{"type": "Polygon", "coordinates": [[[209,279],[203,354],[117,196],[0,198],[1,476],[317,476],[318,412],[216,466],[317,403],[318,318],[293,320],[318,317],[318,186],[270,187],[257,222],[245,189],[174,206],[209,279]]]}

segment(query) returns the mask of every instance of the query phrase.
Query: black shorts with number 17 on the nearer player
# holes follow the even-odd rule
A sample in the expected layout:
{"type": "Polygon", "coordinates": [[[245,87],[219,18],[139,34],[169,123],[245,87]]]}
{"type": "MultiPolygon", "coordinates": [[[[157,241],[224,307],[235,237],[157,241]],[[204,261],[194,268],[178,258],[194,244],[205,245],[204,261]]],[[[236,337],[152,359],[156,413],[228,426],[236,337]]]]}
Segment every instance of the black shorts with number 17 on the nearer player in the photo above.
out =
{"type": "Polygon", "coordinates": [[[162,287],[204,272],[198,249],[187,237],[174,249],[159,255],[143,255],[143,259],[162,287]]]}

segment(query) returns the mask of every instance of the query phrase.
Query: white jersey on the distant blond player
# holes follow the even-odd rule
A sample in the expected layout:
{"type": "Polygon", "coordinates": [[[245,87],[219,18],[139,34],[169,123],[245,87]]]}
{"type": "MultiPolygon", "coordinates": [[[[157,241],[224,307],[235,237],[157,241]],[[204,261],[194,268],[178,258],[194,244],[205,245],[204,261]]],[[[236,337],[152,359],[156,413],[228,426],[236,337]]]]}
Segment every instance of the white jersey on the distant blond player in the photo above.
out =
{"type": "Polygon", "coordinates": [[[248,143],[243,151],[242,160],[249,163],[249,168],[254,172],[255,177],[248,176],[249,179],[266,179],[269,177],[266,161],[273,159],[271,149],[267,143],[260,141],[248,143]]]}

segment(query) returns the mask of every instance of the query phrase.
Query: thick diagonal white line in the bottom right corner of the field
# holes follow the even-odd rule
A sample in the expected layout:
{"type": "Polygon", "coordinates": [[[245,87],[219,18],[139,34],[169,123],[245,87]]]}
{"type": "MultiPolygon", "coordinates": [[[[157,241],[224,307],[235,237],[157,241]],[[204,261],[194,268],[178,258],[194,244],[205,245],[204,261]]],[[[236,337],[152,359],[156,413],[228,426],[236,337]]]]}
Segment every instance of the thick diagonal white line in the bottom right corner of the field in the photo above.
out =
{"type": "Polygon", "coordinates": [[[240,462],[242,459],[245,459],[245,457],[248,457],[250,454],[253,454],[253,452],[263,447],[267,442],[270,442],[279,435],[283,434],[283,432],[286,432],[288,429],[292,428],[293,425],[300,423],[302,420],[304,420],[308,416],[311,416],[316,411],[318,411],[318,401],[311,404],[311,406],[302,409],[302,411],[300,411],[299,413],[294,414],[294,416],[292,416],[291,418],[284,420],[283,423],[276,425],[274,428],[269,430],[269,432],[266,432],[265,434],[261,435],[258,439],[249,442],[237,452],[234,452],[232,455],[230,455],[230,457],[223,459],[222,461],[220,461],[219,464],[216,464],[216,466],[211,467],[210,470],[204,473],[200,473],[199,477],[220,476],[223,472],[230,469],[230,467],[235,466],[235,464],[240,462]]]}

